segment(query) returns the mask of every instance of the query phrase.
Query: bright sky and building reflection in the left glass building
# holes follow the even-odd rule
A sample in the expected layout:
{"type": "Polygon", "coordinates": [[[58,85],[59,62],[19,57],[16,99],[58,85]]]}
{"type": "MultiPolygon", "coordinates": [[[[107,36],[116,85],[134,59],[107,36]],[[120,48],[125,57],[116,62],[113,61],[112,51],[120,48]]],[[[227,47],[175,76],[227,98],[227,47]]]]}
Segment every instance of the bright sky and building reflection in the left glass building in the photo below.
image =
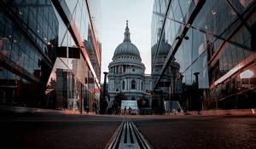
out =
{"type": "Polygon", "coordinates": [[[98,28],[101,23],[101,12],[98,9],[100,3],[79,0],[77,3],[55,2],[54,5],[59,14],[62,10],[65,12],[60,14],[62,19],[60,34],[63,35],[59,38],[60,53],[48,83],[49,89],[53,89],[52,93],[56,95],[56,108],[97,112],[101,73],[101,43],[100,28],[98,28]],[[66,17],[69,17],[68,20],[71,22],[66,22],[66,17]],[[50,86],[52,80],[56,80],[55,87],[50,86]]]}

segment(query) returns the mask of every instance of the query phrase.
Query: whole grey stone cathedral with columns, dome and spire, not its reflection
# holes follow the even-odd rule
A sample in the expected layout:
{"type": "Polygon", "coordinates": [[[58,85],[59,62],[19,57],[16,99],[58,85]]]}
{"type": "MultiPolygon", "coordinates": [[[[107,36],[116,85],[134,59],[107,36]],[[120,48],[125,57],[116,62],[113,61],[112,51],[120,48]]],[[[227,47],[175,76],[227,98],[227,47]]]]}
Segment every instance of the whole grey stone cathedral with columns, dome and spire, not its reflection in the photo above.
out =
{"type": "Polygon", "coordinates": [[[145,77],[145,66],[137,47],[131,43],[128,21],[125,28],[125,39],[115,49],[112,62],[108,66],[109,101],[120,92],[127,100],[139,100],[146,96],[146,90],[151,90],[151,78],[145,77]]]}

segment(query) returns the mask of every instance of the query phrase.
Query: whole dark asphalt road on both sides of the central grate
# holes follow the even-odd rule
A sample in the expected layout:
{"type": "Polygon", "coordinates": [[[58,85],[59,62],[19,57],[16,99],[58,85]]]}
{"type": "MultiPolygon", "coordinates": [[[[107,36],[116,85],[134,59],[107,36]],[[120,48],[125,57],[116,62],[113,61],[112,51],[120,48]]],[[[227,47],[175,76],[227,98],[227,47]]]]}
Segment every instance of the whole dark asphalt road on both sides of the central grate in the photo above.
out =
{"type": "MultiPolygon", "coordinates": [[[[0,148],[104,148],[124,117],[0,113],[0,148]]],[[[130,118],[154,148],[256,148],[256,116],[130,118]]]]}

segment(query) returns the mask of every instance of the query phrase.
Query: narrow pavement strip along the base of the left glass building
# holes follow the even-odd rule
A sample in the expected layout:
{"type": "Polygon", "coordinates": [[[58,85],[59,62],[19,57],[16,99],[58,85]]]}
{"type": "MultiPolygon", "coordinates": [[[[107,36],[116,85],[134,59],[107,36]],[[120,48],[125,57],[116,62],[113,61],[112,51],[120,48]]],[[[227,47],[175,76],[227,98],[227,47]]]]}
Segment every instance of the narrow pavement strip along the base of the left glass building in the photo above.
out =
{"type": "MultiPolygon", "coordinates": [[[[78,111],[53,110],[53,109],[42,109],[42,108],[34,108],[34,107],[22,107],[22,106],[0,106],[0,112],[81,114],[78,111]]],[[[95,113],[83,112],[83,114],[94,115],[95,113]]]]}

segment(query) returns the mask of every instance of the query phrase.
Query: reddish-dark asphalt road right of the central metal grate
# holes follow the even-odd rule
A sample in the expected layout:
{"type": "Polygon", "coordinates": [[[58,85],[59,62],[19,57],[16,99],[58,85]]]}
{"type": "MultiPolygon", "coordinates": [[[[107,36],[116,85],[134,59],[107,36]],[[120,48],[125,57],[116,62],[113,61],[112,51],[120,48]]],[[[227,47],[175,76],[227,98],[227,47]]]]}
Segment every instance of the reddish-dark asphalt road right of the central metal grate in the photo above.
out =
{"type": "Polygon", "coordinates": [[[131,117],[154,148],[256,148],[256,116],[131,117]]]}

